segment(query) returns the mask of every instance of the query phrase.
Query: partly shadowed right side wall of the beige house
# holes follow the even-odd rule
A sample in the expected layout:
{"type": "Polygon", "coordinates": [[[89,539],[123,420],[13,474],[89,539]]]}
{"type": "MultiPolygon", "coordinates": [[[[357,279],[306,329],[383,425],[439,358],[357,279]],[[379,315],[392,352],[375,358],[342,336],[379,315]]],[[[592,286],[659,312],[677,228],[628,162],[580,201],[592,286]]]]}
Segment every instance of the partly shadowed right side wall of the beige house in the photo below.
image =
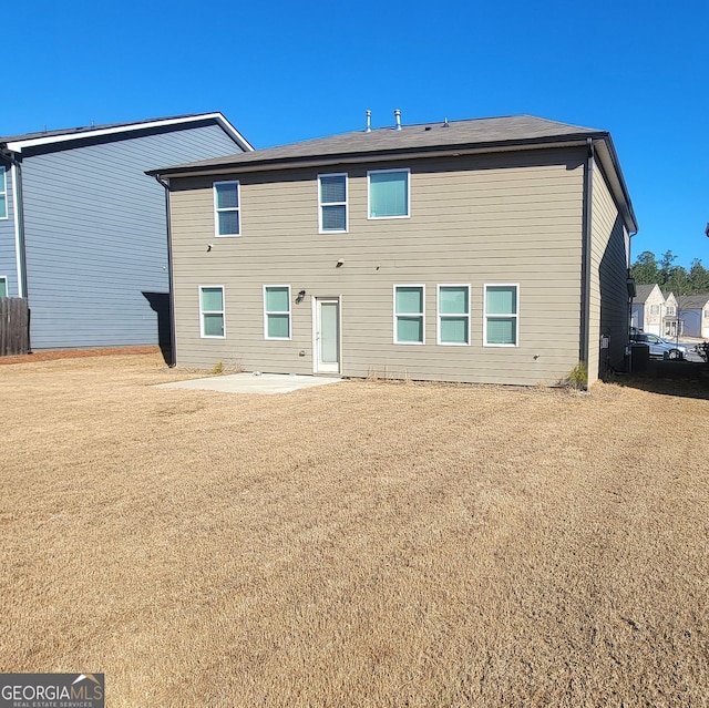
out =
{"type": "Polygon", "coordinates": [[[603,373],[606,363],[621,368],[628,340],[627,232],[605,176],[594,165],[592,198],[592,277],[588,382],[603,373]],[[600,349],[600,337],[608,336],[609,348],[600,349]],[[607,357],[607,361],[606,361],[607,357]]]}

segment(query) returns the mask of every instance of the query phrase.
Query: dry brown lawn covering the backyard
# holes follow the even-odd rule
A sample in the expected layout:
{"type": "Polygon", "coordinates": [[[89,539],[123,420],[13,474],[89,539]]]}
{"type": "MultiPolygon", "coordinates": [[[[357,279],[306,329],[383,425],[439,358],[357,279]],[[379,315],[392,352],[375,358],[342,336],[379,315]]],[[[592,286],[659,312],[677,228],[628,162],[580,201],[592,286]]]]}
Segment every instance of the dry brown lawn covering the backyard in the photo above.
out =
{"type": "Polygon", "coordinates": [[[0,671],[103,671],[111,708],[709,705],[706,398],[152,387],[185,376],[0,367],[0,671]]]}

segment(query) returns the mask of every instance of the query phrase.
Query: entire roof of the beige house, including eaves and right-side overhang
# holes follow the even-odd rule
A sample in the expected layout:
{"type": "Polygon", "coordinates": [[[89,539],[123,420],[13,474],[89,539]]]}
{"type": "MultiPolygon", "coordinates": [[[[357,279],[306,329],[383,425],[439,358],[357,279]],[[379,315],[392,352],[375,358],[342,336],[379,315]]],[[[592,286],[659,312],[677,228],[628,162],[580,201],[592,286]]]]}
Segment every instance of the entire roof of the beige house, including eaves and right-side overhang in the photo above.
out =
{"type": "Polygon", "coordinates": [[[207,176],[327,167],[362,162],[384,162],[512,152],[545,147],[580,147],[592,141],[598,161],[623,215],[628,232],[638,230],[630,197],[620,171],[610,134],[607,131],[557,123],[531,115],[512,115],[450,123],[404,125],[401,130],[380,127],[290,143],[253,153],[151,170],[161,177],[207,176]]]}

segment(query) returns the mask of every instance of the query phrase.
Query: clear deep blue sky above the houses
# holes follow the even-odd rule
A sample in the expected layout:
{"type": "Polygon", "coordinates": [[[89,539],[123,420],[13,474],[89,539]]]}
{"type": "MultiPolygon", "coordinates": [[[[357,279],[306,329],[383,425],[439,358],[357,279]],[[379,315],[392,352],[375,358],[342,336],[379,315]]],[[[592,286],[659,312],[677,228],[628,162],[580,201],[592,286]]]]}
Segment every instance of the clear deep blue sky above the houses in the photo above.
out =
{"type": "Polygon", "coordinates": [[[528,113],[612,133],[643,250],[709,266],[709,3],[14,2],[0,135],[222,111],[256,147],[528,113]]]}

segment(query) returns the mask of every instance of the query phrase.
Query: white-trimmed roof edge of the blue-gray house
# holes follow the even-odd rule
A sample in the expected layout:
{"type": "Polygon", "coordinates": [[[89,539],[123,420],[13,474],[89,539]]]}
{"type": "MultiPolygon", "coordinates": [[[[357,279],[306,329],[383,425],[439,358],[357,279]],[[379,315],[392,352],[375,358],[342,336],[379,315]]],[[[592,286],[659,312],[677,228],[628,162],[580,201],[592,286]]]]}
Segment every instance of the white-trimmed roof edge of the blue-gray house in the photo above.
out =
{"type": "Polygon", "coordinates": [[[9,137],[0,137],[0,145],[13,153],[21,153],[28,147],[39,147],[43,145],[53,145],[59,143],[71,143],[73,141],[86,137],[102,137],[107,135],[120,135],[123,133],[133,133],[146,129],[172,127],[178,125],[189,125],[202,121],[215,121],[222,130],[246,152],[254,152],[253,145],[229,123],[224,114],[196,113],[189,115],[176,115],[162,119],[148,119],[146,121],[136,121],[133,123],[114,123],[111,125],[91,125],[86,127],[73,127],[59,131],[49,131],[45,133],[27,133],[24,135],[13,135],[9,137]]]}

